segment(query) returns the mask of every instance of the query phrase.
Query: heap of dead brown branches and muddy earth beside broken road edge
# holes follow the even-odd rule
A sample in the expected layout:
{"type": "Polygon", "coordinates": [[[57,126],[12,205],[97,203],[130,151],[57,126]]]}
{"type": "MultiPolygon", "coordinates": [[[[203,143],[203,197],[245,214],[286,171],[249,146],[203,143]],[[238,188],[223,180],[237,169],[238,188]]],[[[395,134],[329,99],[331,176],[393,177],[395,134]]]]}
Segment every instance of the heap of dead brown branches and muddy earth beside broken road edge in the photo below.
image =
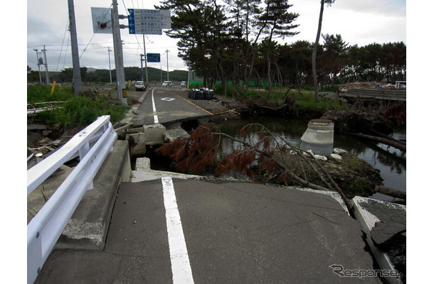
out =
{"type": "Polygon", "coordinates": [[[206,124],[199,126],[190,138],[164,144],[157,153],[171,158],[181,173],[212,171],[221,176],[237,171],[253,181],[337,191],[344,200],[354,195],[369,196],[382,181],[378,170],[353,155],[342,155],[340,161],[319,162],[260,124],[245,126],[240,136],[233,138],[221,133],[217,126],[206,124]],[[233,146],[230,153],[218,157],[222,136],[231,138],[233,146]]]}

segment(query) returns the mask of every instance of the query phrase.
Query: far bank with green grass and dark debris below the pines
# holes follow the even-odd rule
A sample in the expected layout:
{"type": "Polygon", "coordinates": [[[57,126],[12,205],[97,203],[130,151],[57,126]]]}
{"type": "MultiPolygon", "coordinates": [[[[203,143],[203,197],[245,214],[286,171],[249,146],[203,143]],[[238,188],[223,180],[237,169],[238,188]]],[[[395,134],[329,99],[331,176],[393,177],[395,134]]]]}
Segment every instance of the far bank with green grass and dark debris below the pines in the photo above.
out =
{"type": "MultiPolygon", "coordinates": [[[[263,97],[257,99],[233,99],[217,97],[221,112],[230,111],[223,119],[236,119],[251,116],[286,117],[292,119],[331,119],[334,130],[341,132],[372,133],[385,135],[393,129],[406,126],[406,103],[383,102],[375,99],[348,99],[342,102],[331,93],[322,94],[322,102],[314,102],[313,94],[308,92],[283,103],[267,102],[263,97]],[[311,97],[309,97],[311,96],[311,97]],[[334,99],[331,99],[334,98],[334,99]],[[339,101],[339,102],[338,102],[339,101]],[[337,106],[341,107],[337,107],[337,106]]],[[[210,111],[213,105],[209,104],[210,111]]],[[[213,121],[216,122],[216,121],[213,121]]]]}

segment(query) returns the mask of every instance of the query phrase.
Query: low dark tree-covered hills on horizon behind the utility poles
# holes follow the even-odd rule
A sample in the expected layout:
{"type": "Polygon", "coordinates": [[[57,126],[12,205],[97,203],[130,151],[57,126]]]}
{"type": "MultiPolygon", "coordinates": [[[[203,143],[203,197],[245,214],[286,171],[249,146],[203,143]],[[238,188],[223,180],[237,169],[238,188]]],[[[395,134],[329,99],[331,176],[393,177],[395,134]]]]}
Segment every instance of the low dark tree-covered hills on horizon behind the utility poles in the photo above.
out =
{"type": "MultiPolygon", "coordinates": [[[[38,71],[31,70],[27,67],[27,82],[39,82],[38,71]]],[[[149,82],[161,82],[167,80],[167,72],[157,68],[148,67],[148,80],[149,82]]],[[[80,67],[82,82],[110,82],[110,73],[107,69],[97,69],[95,72],[88,72],[87,67],[80,67]]],[[[112,82],[116,82],[116,70],[112,70],[112,82]]],[[[144,73],[144,68],[143,68],[144,73]]],[[[186,81],[187,71],[174,70],[169,72],[169,80],[171,81],[186,81]]],[[[42,82],[46,82],[45,72],[41,72],[42,82]]],[[[50,82],[72,82],[73,68],[65,68],[61,72],[50,72],[50,82]]],[[[145,75],[143,75],[145,78],[145,75]]],[[[142,70],[140,67],[125,67],[125,80],[128,82],[142,80],[142,70]]],[[[145,79],[144,79],[145,81],[145,79]]]]}

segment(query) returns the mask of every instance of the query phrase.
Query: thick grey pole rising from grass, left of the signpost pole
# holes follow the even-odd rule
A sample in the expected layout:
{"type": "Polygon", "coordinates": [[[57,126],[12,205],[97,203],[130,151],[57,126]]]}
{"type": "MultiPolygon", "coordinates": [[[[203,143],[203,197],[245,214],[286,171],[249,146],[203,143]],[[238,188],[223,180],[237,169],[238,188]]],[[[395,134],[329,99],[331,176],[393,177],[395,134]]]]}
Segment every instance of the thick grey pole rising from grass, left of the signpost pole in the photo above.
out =
{"type": "Polygon", "coordinates": [[[74,92],[81,92],[80,58],[78,57],[77,28],[75,28],[74,0],[68,0],[69,31],[71,34],[71,50],[73,53],[73,83],[74,92]]]}

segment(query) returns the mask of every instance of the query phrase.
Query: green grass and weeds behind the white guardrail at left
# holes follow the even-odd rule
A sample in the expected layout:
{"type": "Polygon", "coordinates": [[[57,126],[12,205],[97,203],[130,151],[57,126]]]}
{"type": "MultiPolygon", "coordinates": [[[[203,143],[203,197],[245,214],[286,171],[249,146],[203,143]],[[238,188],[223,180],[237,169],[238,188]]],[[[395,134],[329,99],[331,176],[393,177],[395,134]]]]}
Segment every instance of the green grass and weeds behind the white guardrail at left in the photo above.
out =
{"type": "Polygon", "coordinates": [[[57,90],[50,96],[49,86],[28,86],[27,102],[54,102],[63,101],[61,109],[43,111],[36,116],[36,120],[43,124],[59,124],[62,127],[87,126],[98,116],[110,115],[110,121],[114,124],[125,116],[128,106],[113,104],[105,96],[98,96],[97,100],[73,94],[72,89],[57,90]],[[45,88],[44,88],[45,87],[45,88]],[[47,90],[48,96],[47,96],[47,90]],[[57,92],[57,95],[56,95],[57,92]]]}

